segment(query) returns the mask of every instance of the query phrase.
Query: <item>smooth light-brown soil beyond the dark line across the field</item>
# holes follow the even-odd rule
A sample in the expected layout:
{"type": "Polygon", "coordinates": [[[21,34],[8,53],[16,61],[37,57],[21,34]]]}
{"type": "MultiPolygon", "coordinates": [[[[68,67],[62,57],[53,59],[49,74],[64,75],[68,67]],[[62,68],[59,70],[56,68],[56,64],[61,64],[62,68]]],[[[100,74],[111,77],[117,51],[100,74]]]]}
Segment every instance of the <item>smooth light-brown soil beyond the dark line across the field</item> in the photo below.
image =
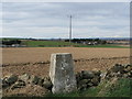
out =
{"type": "Polygon", "coordinates": [[[129,48],[88,48],[88,47],[23,47],[2,48],[2,63],[47,62],[52,53],[72,53],[74,59],[101,57],[123,57],[130,55],[129,48]]]}

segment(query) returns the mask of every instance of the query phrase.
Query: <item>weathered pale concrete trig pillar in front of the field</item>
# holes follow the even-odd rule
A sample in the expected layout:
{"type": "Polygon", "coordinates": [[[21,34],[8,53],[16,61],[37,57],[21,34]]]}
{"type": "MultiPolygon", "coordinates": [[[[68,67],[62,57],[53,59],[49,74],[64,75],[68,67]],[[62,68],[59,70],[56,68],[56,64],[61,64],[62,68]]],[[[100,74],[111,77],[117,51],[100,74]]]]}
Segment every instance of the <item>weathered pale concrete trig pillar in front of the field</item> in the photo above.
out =
{"type": "Polygon", "coordinates": [[[50,77],[53,94],[70,92],[77,88],[72,54],[56,53],[51,56],[50,77]]]}

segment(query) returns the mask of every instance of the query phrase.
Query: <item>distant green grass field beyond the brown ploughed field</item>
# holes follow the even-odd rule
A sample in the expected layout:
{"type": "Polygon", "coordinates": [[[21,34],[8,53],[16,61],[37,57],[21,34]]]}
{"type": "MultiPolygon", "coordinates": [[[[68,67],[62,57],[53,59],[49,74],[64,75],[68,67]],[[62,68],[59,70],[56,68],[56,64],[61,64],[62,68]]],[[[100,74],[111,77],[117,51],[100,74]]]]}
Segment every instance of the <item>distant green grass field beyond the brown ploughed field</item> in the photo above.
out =
{"type": "Polygon", "coordinates": [[[65,46],[74,46],[74,47],[108,47],[108,48],[130,48],[127,46],[119,46],[119,45],[84,45],[84,44],[76,44],[63,41],[23,41],[22,44],[25,44],[28,47],[65,47],[65,46]]]}

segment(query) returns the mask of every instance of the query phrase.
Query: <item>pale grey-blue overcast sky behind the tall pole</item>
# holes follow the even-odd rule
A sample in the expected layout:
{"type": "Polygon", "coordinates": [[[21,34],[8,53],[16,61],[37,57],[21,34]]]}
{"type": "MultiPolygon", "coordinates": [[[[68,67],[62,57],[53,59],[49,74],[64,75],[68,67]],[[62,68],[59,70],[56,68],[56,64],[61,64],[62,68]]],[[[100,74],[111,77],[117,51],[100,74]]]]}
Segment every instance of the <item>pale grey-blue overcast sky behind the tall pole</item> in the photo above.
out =
{"type": "Polygon", "coordinates": [[[4,37],[129,37],[129,2],[2,3],[4,37]]]}

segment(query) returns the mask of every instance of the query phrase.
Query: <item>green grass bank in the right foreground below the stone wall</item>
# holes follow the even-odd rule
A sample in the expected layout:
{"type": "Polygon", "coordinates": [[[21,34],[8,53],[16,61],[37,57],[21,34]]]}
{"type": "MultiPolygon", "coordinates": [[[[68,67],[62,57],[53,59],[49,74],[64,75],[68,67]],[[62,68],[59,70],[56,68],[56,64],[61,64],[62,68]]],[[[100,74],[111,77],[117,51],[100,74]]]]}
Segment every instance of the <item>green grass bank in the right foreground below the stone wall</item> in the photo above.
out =
{"type": "Polygon", "coordinates": [[[46,97],[130,97],[130,79],[121,78],[111,85],[111,81],[103,80],[97,87],[84,91],[70,94],[47,95],[46,97]]]}

